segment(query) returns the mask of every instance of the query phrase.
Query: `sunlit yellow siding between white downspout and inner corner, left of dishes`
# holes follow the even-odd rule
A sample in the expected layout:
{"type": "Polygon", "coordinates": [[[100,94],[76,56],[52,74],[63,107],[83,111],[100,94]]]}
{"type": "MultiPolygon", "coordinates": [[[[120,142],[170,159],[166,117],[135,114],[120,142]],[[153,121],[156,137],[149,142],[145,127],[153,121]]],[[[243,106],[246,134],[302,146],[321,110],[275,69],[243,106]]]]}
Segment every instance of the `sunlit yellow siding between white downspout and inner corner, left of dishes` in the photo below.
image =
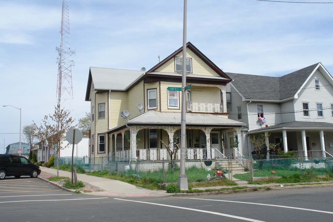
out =
{"type": "Polygon", "coordinates": [[[111,92],[110,94],[110,128],[113,128],[123,122],[125,119],[120,118],[121,111],[128,109],[127,92],[111,92]]]}

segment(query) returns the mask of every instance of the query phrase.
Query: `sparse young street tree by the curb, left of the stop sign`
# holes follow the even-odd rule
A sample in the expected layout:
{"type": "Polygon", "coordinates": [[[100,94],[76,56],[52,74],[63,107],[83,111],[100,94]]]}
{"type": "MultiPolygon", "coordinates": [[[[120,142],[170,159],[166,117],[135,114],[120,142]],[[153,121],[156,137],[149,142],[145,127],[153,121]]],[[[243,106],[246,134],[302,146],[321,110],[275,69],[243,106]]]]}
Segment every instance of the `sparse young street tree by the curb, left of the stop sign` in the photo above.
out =
{"type": "Polygon", "coordinates": [[[59,176],[59,157],[61,144],[65,140],[64,135],[67,130],[74,127],[74,120],[69,116],[70,111],[60,109],[60,105],[55,106],[54,114],[45,115],[40,126],[34,122],[37,130],[36,137],[40,141],[47,141],[50,148],[57,154],[57,176],[59,176]]]}

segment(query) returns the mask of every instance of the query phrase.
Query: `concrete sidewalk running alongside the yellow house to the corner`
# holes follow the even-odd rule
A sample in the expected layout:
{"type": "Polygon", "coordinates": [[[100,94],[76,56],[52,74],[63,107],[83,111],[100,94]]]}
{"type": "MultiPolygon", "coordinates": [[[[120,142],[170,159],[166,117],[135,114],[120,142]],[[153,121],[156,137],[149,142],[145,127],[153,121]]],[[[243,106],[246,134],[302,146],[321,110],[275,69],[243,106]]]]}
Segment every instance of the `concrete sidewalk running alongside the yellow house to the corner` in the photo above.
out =
{"type": "MultiPolygon", "coordinates": [[[[38,176],[40,179],[47,180],[51,176],[57,175],[57,169],[51,169],[47,167],[41,167],[42,172],[38,176]]],[[[72,173],[59,170],[59,176],[72,178],[72,173]]],[[[119,180],[112,180],[103,177],[89,176],[86,174],[77,174],[77,180],[84,183],[91,184],[104,191],[89,192],[85,194],[91,195],[107,195],[107,196],[150,196],[150,197],[161,197],[170,196],[173,194],[166,193],[165,190],[149,190],[142,187],[138,187],[129,183],[125,183],[119,180]]]]}

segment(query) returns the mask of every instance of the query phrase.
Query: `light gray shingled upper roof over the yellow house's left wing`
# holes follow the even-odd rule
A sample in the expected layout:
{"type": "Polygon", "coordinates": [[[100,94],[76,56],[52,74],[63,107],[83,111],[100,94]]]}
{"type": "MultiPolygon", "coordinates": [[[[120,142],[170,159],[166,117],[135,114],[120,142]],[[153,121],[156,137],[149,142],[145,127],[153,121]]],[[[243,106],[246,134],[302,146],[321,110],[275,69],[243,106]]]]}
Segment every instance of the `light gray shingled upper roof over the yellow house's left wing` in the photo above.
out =
{"type": "Polygon", "coordinates": [[[144,71],[90,67],[95,90],[126,90],[144,71]]]}

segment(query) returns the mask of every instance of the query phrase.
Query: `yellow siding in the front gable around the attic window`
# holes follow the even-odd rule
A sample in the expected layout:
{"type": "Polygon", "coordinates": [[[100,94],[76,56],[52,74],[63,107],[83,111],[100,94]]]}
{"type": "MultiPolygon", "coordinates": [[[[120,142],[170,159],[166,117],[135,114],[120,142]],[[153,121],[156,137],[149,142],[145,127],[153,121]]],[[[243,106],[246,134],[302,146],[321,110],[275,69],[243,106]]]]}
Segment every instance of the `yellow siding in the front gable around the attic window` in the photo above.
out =
{"type": "MultiPolygon", "coordinates": [[[[182,57],[182,52],[176,55],[182,57]]],[[[219,76],[215,73],[206,63],[204,63],[197,55],[191,50],[186,50],[186,57],[192,58],[192,74],[202,76],[219,76]]],[[[157,72],[175,73],[174,72],[174,58],[167,61],[163,66],[156,70],[157,72]]]]}

